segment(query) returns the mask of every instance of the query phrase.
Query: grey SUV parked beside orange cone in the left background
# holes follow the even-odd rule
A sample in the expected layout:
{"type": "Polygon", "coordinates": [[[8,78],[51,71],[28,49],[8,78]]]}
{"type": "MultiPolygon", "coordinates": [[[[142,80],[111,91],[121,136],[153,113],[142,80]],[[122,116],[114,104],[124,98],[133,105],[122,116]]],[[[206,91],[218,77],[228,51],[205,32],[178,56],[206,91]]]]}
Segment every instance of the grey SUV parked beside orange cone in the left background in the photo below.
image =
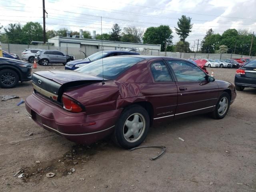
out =
{"type": "Polygon", "coordinates": [[[70,62],[74,59],[74,56],[65,55],[58,50],[38,51],[35,56],[36,62],[44,66],[47,66],[49,63],[62,63],[66,65],[67,62],[70,62]]]}

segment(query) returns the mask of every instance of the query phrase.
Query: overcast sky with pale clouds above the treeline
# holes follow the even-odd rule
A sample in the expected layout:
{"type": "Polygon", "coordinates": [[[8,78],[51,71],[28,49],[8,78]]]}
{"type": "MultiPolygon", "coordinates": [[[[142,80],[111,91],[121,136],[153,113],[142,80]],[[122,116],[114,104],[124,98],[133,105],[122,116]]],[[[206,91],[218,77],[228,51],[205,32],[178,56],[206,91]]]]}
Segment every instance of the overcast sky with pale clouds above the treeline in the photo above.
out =
{"type": "MultiPolygon", "coordinates": [[[[202,40],[209,28],[222,34],[229,28],[256,32],[256,0],[45,0],[46,30],[88,30],[109,32],[114,23],[122,28],[169,25],[173,42],[179,40],[174,26],[183,14],[192,18],[193,28],[186,39],[190,46],[202,40]]],[[[0,25],[28,21],[42,23],[42,0],[0,0],[0,25]]],[[[1,30],[3,32],[3,30],[1,30]]],[[[200,44],[200,42],[199,42],[200,44]]]]}

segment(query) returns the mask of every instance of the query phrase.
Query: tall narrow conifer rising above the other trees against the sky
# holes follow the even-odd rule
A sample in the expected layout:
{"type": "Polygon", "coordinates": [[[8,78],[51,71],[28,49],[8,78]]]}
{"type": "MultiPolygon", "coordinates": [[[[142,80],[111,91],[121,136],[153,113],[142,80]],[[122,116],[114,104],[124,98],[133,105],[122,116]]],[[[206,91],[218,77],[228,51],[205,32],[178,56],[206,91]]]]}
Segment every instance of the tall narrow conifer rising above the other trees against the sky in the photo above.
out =
{"type": "Polygon", "coordinates": [[[185,42],[186,38],[188,37],[188,34],[191,32],[191,29],[193,27],[193,24],[191,24],[191,19],[192,18],[190,17],[182,15],[177,22],[178,28],[174,27],[176,33],[180,36],[180,40],[183,42],[185,42]]]}

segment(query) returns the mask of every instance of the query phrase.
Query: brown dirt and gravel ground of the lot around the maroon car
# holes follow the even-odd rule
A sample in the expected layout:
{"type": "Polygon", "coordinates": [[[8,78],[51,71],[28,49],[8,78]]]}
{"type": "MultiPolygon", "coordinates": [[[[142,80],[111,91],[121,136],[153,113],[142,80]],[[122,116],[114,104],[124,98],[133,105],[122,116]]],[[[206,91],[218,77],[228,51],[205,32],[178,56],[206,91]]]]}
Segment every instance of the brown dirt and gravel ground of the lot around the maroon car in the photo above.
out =
{"type": "MultiPolygon", "coordinates": [[[[36,70],[49,69],[64,66],[36,70]]],[[[236,69],[213,70],[215,78],[234,83],[236,69]]],[[[16,94],[23,100],[31,93],[31,82],[0,89],[0,95],[16,94]]],[[[24,104],[16,106],[20,99],[0,101],[0,191],[255,191],[255,98],[256,89],[237,92],[222,120],[198,115],[152,126],[141,146],[166,146],[154,161],[150,158],[161,149],[130,152],[108,139],[77,145],[37,126],[24,104]],[[68,174],[71,168],[75,172],[68,174]],[[14,177],[19,170],[24,178],[14,177]],[[47,178],[49,172],[56,175],[47,178]]]]}

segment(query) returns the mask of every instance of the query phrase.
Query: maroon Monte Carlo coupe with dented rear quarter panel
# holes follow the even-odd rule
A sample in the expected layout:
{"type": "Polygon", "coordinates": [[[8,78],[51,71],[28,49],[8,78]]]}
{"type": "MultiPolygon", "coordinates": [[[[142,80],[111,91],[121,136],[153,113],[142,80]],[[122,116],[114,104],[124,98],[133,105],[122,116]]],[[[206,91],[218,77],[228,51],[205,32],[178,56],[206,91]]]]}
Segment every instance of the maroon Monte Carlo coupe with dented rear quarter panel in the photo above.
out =
{"type": "Polygon", "coordinates": [[[236,98],[230,82],[168,57],[109,57],[75,71],[34,72],[32,80],[26,110],[39,126],[83,144],[112,134],[124,148],[141,144],[154,122],[224,118],[236,98]]]}

